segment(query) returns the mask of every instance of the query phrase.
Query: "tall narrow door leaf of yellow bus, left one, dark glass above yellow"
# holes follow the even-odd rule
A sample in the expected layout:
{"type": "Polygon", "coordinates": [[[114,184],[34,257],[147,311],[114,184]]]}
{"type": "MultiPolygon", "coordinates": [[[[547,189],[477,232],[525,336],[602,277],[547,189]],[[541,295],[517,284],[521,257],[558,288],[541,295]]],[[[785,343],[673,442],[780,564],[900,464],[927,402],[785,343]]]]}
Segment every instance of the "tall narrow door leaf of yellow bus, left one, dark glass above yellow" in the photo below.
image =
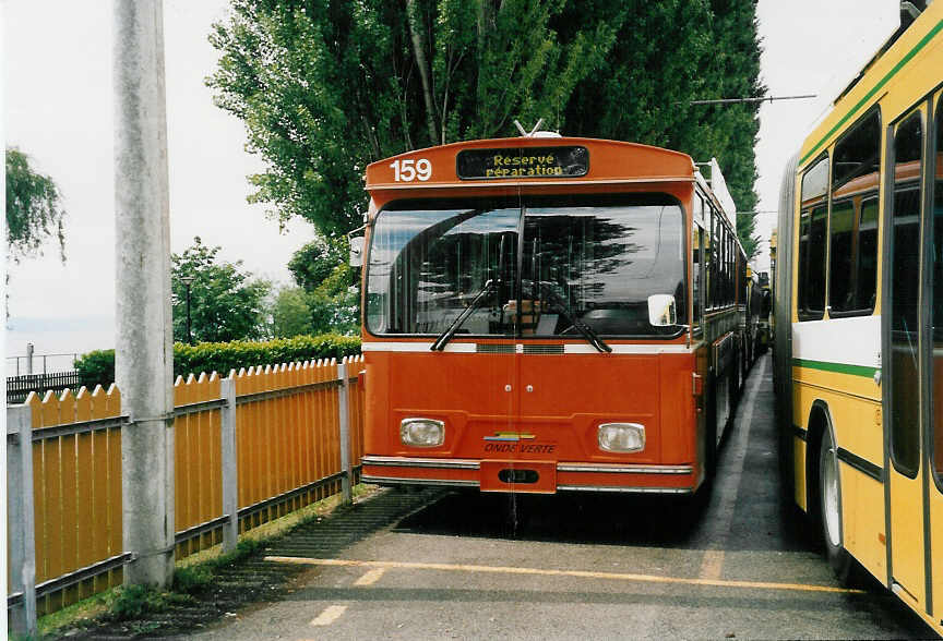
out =
{"type": "MultiPolygon", "coordinates": [[[[884,415],[887,447],[890,588],[918,609],[928,604],[929,513],[923,447],[927,361],[921,299],[921,190],[924,112],[918,109],[891,130],[893,190],[887,207],[883,314],[884,415]],[[921,375],[924,374],[924,375],[921,375]]],[[[943,595],[940,595],[943,596],[943,595]]]]}

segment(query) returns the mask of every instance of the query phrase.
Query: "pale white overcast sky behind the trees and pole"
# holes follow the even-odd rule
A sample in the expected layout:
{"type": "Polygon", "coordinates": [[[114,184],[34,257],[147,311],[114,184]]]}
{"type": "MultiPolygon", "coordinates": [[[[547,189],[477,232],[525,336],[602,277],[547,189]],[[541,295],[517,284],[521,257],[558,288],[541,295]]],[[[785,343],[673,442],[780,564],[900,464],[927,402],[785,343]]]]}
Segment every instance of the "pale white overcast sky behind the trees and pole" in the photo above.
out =
{"type": "MultiPolygon", "coordinates": [[[[812,100],[764,102],[756,145],[759,210],[777,206],[781,172],[832,99],[893,33],[896,0],[760,0],[762,78],[771,96],[812,100]]],[[[165,0],[171,252],[199,235],[220,257],[289,283],[286,264],[313,238],[297,221],[279,231],[264,205],[250,205],[246,177],[264,170],[244,149],[243,125],[213,105],[204,78],[217,52],[206,37],[227,13],[226,0],[165,0]]],[[[115,344],[115,211],[111,164],[111,2],[0,0],[2,129],[8,146],[52,177],[67,210],[64,264],[49,243],[43,256],[7,265],[5,329],[12,356],[82,353],[115,344]]],[[[565,131],[562,133],[566,133],[565,131]]],[[[697,159],[700,160],[700,159],[697,159]]],[[[761,214],[768,239],[774,214],[761,214]]],[[[765,255],[757,259],[768,264],[765,255]]],[[[68,368],[69,359],[49,359],[68,368]]],[[[21,367],[24,363],[21,362],[21,367]]]]}

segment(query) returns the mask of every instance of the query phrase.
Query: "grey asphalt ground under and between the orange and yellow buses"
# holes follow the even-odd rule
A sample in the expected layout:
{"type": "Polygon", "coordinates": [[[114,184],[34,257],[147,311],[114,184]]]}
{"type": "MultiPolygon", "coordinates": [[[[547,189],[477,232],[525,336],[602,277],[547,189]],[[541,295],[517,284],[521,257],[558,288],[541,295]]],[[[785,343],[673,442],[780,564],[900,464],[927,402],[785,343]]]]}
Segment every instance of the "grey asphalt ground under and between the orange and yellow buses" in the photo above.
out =
{"type": "Polygon", "coordinates": [[[931,637],[880,585],[838,585],[780,500],[769,365],[748,379],[709,500],[445,494],[339,554],[278,561],[310,568],[294,592],[200,637],[931,637]]]}

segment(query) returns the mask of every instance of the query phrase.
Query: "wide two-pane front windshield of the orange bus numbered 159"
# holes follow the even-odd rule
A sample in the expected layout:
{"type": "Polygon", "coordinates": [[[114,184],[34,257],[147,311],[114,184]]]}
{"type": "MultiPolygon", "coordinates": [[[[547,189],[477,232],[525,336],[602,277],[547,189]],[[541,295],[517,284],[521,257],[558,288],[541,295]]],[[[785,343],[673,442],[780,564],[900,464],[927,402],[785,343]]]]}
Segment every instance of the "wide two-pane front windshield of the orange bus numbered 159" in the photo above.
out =
{"type": "Polygon", "coordinates": [[[673,335],[648,322],[672,294],[684,324],[684,233],[663,194],[394,202],[377,218],[367,265],[374,335],[572,337],[673,335]]]}

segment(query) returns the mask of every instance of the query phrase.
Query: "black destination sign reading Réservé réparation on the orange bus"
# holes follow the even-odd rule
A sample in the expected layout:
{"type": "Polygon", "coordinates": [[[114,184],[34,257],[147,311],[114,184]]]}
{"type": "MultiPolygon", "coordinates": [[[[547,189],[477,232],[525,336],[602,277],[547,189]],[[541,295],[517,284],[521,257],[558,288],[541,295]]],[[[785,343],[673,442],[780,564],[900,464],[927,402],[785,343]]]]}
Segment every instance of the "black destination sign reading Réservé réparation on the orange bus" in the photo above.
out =
{"type": "Polygon", "coordinates": [[[588,171],[589,150],[578,146],[465,149],[455,158],[462,180],[578,178],[588,171]]]}

